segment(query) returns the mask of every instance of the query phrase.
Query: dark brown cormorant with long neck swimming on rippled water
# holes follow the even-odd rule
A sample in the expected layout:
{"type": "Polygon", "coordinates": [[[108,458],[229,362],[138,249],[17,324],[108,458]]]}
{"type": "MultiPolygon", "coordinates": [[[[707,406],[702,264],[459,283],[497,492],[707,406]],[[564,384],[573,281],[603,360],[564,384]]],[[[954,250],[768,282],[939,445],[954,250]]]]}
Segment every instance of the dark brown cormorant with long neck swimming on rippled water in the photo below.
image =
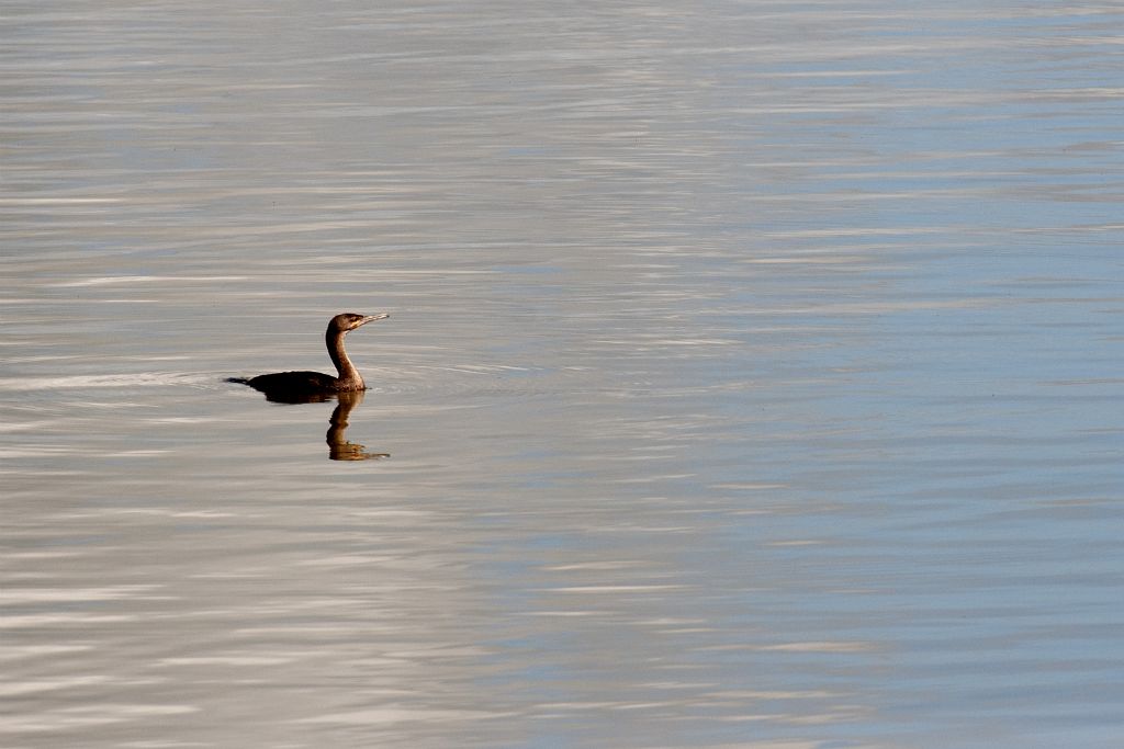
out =
{"type": "Polygon", "coordinates": [[[344,312],[332,318],[324,334],[324,342],[328,347],[332,363],[336,365],[336,372],[339,373],[336,377],[320,372],[274,372],[250,378],[229,377],[227,382],[250,385],[265,393],[266,400],[281,403],[324,401],[338,393],[362,392],[366,390],[366,383],[344,350],[344,336],[368,322],[389,317],[387,312],[377,314],[344,312]]]}

